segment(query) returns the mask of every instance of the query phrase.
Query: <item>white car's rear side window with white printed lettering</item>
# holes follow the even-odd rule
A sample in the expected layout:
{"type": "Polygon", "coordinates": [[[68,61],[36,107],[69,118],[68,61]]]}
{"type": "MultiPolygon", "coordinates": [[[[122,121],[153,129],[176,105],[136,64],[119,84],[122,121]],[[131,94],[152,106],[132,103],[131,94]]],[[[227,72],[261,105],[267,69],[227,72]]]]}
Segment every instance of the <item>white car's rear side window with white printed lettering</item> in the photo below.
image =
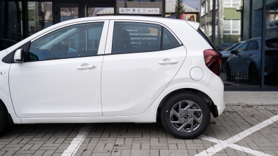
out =
{"type": "Polygon", "coordinates": [[[158,24],[115,22],[112,53],[161,51],[177,46],[181,44],[158,24]]]}

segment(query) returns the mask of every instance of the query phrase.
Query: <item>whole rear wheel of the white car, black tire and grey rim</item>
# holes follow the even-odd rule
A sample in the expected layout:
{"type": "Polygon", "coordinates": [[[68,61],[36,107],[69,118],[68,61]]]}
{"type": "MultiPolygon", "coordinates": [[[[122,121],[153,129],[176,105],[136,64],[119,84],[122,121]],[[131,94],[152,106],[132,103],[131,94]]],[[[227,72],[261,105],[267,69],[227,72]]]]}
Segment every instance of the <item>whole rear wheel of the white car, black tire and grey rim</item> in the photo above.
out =
{"type": "Polygon", "coordinates": [[[179,139],[199,137],[208,128],[210,120],[211,112],[208,104],[192,92],[180,92],[171,96],[161,111],[161,121],[165,130],[179,139]],[[177,111],[180,106],[181,111],[177,111]]]}

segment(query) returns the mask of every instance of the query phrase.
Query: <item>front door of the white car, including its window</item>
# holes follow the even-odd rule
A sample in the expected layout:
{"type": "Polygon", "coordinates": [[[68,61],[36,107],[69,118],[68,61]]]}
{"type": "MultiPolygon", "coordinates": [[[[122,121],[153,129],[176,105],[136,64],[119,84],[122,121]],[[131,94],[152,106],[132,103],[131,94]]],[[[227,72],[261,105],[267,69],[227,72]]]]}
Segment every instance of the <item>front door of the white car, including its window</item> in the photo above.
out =
{"type": "Polygon", "coordinates": [[[107,28],[108,21],[75,24],[31,42],[26,62],[10,67],[17,116],[101,116],[101,54],[107,28]]]}

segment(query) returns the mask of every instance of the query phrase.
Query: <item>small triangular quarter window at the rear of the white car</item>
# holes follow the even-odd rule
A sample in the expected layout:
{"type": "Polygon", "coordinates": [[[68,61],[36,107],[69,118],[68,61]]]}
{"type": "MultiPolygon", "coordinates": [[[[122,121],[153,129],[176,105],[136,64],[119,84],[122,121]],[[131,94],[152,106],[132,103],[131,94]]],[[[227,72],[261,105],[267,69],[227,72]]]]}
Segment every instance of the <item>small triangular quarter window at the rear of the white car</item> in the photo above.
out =
{"type": "Polygon", "coordinates": [[[162,49],[173,49],[179,46],[179,42],[174,38],[174,36],[166,29],[163,28],[163,40],[162,49]]]}

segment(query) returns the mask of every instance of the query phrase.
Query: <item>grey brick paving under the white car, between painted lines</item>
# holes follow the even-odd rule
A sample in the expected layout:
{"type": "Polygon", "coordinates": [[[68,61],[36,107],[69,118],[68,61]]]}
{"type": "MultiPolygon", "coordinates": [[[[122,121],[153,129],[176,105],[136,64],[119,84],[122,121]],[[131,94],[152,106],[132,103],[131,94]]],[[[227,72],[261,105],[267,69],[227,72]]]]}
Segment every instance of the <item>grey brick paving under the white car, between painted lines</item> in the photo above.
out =
{"type": "MultiPolygon", "coordinates": [[[[278,114],[278,106],[227,106],[204,135],[226,140],[278,114]]],[[[62,155],[85,124],[14,125],[0,137],[0,155],[62,155]]],[[[236,142],[278,155],[278,122],[236,142]]],[[[215,146],[204,139],[175,139],[154,123],[94,123],[77,155],[196,155],[215,146]]],[[[250,155],[227,147],[215,155],[250,155]]]]}

